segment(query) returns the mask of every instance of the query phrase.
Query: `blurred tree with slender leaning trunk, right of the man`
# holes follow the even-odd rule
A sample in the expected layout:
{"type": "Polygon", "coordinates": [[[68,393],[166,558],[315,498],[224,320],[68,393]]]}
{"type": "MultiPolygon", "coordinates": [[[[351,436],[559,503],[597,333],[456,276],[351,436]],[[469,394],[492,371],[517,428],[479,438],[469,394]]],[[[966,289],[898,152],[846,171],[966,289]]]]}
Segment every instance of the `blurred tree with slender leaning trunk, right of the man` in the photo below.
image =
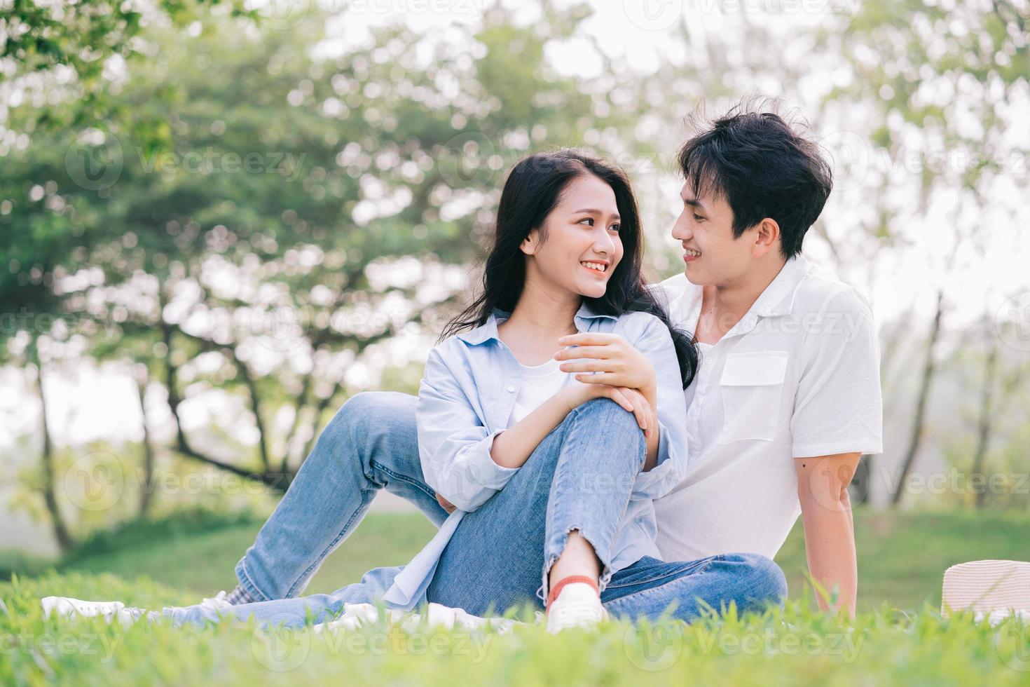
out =
{"type": "MultiPolygon", "coordinates": [[[[1014,174],[1027,154],[1019,136],[1025,122],[1008,107],[1014,97],[1027,94],[1026,16],[1022,0],[939,5],[876,0],[861,5],[847,31],[824,35],[852,68],[852,82],[831,98],[871,114],[877,128],[870,143],[886,153],[879,159],[900,162],[881,177],[884,193],[872,215],[881,231],[911,244],[918,239],[901,228],[925,222],[931,207],[951,207],[965,220],[954,231],[935,233],[935,245],[926,246],[938,266],[931,284],[935,307],[894,505],[901,502],[925,437],[951,275],[956,265],[981,253],[977,244],[990,240],[986,218],[1004,212],[999,197],[1012,197],[999,195],[999,187],[1027,184],[1025,174],[1014,174]]],[[[1012,219],[1017,209],[1008,208],[1012,219]]]]}

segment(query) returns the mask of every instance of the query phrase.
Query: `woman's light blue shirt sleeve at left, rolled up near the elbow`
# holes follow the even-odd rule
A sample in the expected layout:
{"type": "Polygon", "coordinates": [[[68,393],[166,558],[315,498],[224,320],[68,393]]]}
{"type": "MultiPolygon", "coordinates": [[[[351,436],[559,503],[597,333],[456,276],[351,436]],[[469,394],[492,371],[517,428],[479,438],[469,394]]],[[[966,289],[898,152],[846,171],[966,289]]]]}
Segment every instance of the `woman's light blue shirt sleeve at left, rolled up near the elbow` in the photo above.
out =
{"type": "Polygon", "coordinates": [[[481,409],[476,409],[478,400],[475,403],[462,389],[441,346],[430,351],[415,410],[418,457],[425,483],[467,512],[486,503],[518,470],[499,466],[490,457],[493,438],[504,430],[487,430],[481,409]]]}

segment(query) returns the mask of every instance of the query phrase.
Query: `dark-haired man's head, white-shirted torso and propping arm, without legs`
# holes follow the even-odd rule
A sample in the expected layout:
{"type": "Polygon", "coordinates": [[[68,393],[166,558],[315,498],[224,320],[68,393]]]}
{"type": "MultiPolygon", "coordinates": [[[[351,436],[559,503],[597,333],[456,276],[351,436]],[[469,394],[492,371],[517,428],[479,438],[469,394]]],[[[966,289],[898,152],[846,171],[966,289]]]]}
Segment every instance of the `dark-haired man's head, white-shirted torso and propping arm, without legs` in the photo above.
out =
{"type": "Polygon", "coordinates": [[[687,389],[691,470],[656,503],[659,548],[774,557],[800,513],[813,579],[854,614],[848,485],[883,450],[880,349],[865,299],[800,255],[830,171],[771,114],[716,122],[679,162],[686,270],[661,286],[702,363],[687,389]]]}

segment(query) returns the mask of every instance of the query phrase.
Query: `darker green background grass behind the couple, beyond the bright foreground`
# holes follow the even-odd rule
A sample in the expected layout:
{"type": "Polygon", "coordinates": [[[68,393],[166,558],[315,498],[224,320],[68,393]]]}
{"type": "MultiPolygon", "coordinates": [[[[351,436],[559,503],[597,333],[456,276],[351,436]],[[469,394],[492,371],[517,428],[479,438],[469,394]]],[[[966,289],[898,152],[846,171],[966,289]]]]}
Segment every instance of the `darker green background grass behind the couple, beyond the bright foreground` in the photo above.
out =
{"type": "MultiPolygon", "coordinates": [[[[236,561],[253,543],[261,521],[244,516],[182,514],[160,523],[130,525],[101,536],[73,553],[61,572],[145,577],[176,589],[211,596],[235,583],[236,561]]],[[[330,592],[356,582],[379,565],[400,565],[433,537],[417,514],[366,518],[311,581],[309,593],[330,592]]],[[[859,558],[859,605],[920,608],[940,606],[940,582],[949,565],[978,558],[1030,560],[1030,518],[968,512],[882,513],[859,510],[855,537],[859,558]]],[[[806,586],[800,522],[777,556],[792,597],[806,586]]],[[[38,570],[38,568],[37,568],[38,570]]]]}

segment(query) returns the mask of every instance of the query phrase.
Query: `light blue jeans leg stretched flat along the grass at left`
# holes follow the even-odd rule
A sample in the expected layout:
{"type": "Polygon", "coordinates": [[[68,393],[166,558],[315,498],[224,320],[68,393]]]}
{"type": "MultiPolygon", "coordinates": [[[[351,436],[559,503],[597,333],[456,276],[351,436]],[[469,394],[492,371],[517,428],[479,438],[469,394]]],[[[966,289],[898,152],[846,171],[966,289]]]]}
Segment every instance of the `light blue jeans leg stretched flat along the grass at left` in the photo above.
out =
{"type": "Polygon", "coordinates": [[[204,625],[218,622],[222,618],[247,620],[254,617],[263,624],[300,627],[304,625],[309,613],[313,622],[319,623],[332,620],[342,613],[344,604],[375,604],[389,589],[400,571],[400,566],[376,568],[366,573],[357,584],[349,584],[332,594],[278,598],[228,608],[201,605],[172,607],[166,608],[163,613],[172,618],[175,625],[184,623],[204,625]]]}

